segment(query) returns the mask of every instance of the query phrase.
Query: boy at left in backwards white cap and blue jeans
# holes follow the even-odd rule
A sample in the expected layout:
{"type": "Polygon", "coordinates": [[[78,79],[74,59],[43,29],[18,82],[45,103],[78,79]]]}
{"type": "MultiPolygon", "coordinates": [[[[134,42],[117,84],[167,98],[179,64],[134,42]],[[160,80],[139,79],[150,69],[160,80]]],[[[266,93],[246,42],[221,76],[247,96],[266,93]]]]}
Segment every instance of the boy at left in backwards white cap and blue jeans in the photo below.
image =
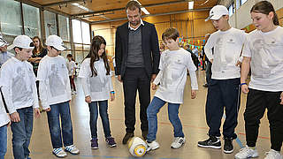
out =
{"type": "Polygon", "coordinates": [[[32,64],[33,41],[27,35],[17,36],[8,49],[14,49],[1,68],[2,92],[11,117],[12,151],[15,159],[29,158],[28,149],[35,117],[40,117],[32,64]]]}

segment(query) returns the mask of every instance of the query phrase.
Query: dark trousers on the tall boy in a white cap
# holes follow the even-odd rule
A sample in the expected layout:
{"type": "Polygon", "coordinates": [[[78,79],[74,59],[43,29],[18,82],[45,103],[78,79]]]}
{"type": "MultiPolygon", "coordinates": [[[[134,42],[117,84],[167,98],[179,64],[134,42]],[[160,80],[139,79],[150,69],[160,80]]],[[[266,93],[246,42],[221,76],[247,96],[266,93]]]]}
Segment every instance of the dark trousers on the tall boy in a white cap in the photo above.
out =
{"type": "Polygon", "coordinates": [[[210,127],[210,136],[220,136],[220,125],[224,108],[226,119],[223,125],[223,136],[236,139],[234,133],[238,125],[238,110],[240,107],[240,79],[211,79],[208,89],[205,113],[206,122],[210,127]]]}

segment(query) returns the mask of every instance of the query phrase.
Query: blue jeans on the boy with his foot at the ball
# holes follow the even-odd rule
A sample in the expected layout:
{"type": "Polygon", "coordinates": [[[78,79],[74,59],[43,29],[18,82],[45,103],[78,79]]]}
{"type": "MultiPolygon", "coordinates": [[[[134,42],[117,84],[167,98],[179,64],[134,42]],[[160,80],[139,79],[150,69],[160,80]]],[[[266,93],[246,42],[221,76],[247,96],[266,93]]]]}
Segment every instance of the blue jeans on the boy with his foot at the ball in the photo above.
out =
{"type": "MultiPolygon", "coordinates": [[[[147,113],[149,120],[149,134],[147,141],[151,142],[157,138],[157,113],[164,106],[166,102],[158,97],[153,97],[149,104],[147,113]]],[[[174,137],[184,137],[182,124],[180,123],[179,114],[180,103],[168,102],[168,116],[171,124],[174,127],[174,137]]]]}

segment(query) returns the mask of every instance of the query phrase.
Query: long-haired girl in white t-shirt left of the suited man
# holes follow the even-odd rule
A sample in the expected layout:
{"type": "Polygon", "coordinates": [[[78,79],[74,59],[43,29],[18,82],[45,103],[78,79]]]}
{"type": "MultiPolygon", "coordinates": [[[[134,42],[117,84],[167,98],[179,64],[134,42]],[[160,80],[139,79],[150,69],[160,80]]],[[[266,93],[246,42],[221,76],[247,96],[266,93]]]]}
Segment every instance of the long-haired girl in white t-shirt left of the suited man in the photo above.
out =
{"type": "Polygon", "coordinates": [[[91,42],[88,56],[80,66],[79,78],[85,93],[85,101],[88,102],[90,113],[91,148],[97,149],[97,117],[99,114],[103,123],[103,132],[107,144],[116,147],[108,117],[108,99],[115,99],[115,92],[111,81],[111,68],[105,54],[106,42],[102,36],[95,36],[91,42]]]}

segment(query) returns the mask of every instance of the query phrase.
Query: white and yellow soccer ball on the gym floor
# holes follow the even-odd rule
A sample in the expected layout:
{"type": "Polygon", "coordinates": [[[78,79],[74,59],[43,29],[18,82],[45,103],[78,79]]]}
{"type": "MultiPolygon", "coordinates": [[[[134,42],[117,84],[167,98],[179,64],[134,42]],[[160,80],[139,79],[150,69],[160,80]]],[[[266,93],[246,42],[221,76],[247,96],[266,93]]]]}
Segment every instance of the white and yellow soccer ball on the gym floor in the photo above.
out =
{"type": "Polygon", "coordinates": [[[139,137],[134,137],[128,144],[129,152],[131,155],[141,157],[145,155],[148,145],[139,137]]]}

